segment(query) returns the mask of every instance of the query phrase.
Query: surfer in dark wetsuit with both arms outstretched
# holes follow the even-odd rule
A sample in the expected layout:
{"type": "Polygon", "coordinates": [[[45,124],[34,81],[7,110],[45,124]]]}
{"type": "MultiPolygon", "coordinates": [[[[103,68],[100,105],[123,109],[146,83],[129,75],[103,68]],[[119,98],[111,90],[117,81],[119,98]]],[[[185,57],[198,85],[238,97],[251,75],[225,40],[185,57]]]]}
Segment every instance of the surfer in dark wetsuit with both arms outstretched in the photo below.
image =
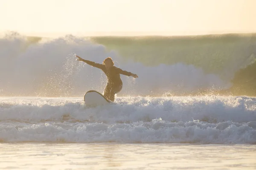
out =
{"type": "Polygon", "coordinates": [[[111,57],[104,59],[102,64],[82,59],[77,55],[76,57],[78,58],[77,61],[83,61],[93,67],[99,68],[106,74],[108,78],[108,83],[105,87],[103,96],[111,100],[112,102],[115,99],[115,94],[122,90],[122,80],[120,78],[120,74],[123,74],[125,76],[132,76],[134,78],[138,77],[137,74],[132,74],[131,72],[123,71],[122,69],[114,66],[114,62],[111,57]]]}

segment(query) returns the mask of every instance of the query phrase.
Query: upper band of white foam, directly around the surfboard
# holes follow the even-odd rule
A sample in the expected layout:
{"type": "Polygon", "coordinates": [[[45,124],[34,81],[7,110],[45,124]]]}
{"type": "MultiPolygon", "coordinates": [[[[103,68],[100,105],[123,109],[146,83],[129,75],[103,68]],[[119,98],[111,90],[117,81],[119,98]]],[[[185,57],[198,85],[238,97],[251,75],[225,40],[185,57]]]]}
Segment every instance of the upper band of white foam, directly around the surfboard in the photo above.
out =
{"type": "Polygon", "coordinates": [[[85,108],[83,98],[0,98],[0,120],[40,122],[256,121],[256,99],[247,97],[122,97],[117,105],[85,108]]]}

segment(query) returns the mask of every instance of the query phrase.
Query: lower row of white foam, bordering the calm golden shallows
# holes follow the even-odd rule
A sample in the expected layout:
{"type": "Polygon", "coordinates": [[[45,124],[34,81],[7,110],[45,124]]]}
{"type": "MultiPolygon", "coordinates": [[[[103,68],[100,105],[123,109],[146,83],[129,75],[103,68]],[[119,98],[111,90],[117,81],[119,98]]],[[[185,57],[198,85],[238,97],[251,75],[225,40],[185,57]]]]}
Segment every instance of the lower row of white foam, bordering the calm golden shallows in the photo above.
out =
{"type": "MultiPolygon", "coordinates": [[[[251,124],[256,125],[256,122],[251,124]]],[[[152,122],[56,123],[0,125],[2,142],[125,143],[256,143],[256,129],[247,123],[152,122]],[[222,126],[222,124],[225,124],[222,126]],[[220,128],[220,126],[222,126],[220,128]]]]}

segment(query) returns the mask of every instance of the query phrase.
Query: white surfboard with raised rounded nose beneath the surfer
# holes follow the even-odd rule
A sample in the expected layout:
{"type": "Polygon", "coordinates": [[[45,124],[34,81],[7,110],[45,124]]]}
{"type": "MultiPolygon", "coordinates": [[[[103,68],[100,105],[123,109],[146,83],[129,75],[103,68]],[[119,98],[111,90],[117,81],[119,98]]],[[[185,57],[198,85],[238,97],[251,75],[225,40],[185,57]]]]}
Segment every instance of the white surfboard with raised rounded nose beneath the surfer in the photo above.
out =
{"type": "Polygon", "coordinates": [[[105,98],[101,93],[99,93],[98,91],[93,91],[93,90],[87,91],[84,94],[84,103],[85,103],[85,105],[87,105],[89,107],[113,104],[112,101],[105,98]]]}

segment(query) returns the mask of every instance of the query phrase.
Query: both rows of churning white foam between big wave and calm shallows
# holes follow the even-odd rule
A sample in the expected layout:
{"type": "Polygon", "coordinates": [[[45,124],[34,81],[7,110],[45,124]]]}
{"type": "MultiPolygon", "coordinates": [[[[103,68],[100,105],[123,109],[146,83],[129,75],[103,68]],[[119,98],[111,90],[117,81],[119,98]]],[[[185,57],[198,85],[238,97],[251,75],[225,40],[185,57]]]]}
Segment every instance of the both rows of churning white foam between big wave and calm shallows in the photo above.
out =
{"type": "Polygon", "coordinates": [[[0,98],[2,142],[256,143],[256,98],[0,98]]]}

